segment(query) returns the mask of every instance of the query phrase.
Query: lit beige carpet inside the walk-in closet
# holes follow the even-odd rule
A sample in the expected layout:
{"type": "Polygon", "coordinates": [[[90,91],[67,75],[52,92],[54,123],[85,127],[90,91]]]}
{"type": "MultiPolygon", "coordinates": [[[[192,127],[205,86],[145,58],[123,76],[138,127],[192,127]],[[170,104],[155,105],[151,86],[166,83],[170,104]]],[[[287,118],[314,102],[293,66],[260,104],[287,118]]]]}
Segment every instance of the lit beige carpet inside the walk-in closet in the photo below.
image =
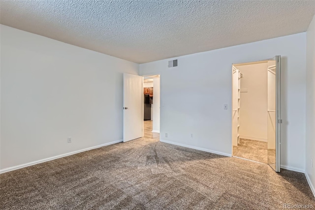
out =
{"type": "Polygon", "coordinates": [[[240,139],[238,146],[233,146],[233,156],[267,163],[267,142],[240,139]]]}

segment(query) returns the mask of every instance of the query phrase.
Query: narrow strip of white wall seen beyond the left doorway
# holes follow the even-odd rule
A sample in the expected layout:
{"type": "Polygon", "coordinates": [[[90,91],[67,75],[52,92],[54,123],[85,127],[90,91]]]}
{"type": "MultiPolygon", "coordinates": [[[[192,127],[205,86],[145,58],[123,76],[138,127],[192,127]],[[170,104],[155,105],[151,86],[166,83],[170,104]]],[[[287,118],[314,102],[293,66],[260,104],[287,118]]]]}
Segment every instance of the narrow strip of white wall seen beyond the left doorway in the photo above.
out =
{"type": "Polygon", "coordinates": [[[160,79],[153,78],[153,125],[152,131],[159,133],[160,79]]]}

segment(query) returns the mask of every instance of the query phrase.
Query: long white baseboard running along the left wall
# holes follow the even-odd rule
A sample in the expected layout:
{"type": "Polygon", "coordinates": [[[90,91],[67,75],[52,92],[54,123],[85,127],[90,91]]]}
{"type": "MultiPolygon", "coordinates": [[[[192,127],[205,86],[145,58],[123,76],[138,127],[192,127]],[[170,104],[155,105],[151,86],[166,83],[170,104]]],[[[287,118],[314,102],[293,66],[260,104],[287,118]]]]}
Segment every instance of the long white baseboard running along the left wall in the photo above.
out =
{"type": "Polygon", "coordinates": [[[66,156],[69,156],[69,155],[72,155],[72,154],[77,154],[77,153],[88,151],[88,150],[94,150],[96,148],[100,148],[100,147],[116,144],[116,143],[119,143],[119,142],[123,142],[123,140],[113,141],[113,142],[97,145],[97,146],[86,148],[86,149],[82,149],[82,150],[71,151],[71,152],[60,154],[60,155],[56,155],[56,156],[53,156],[53,157],[48,157],[48,158],[44,158],[44,159],[41,159],[41,160],[36,160],[36,161],[30,162],[30,163],[24,163],[24,164],[21,164],[21,165],[4,168],[4,169],[0,170],[0,174],[6,173],[6,172],[9,172],[9,171],[14,171],[14,170],[21,169],[21,168],[25,168],[25,167],[28,167],[28,166],[36,165],[36,164],[39,164],[39,163],[47,162],[47,161],[50,161],[50,160],[55,160],[55,159],[58,159],[58,158],[66,157],[66,156]]]}

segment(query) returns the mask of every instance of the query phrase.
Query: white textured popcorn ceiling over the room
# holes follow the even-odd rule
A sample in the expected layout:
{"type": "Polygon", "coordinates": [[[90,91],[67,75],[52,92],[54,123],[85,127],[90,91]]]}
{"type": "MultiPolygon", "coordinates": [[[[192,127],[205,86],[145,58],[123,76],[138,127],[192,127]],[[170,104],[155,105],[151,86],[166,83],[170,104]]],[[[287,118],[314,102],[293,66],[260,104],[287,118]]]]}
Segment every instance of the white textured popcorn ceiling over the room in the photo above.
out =
{"type": "Polygon", "coordinates": [[[306,31],[315,0],[0,0],[0,23],[137,63],[306,31]]]}

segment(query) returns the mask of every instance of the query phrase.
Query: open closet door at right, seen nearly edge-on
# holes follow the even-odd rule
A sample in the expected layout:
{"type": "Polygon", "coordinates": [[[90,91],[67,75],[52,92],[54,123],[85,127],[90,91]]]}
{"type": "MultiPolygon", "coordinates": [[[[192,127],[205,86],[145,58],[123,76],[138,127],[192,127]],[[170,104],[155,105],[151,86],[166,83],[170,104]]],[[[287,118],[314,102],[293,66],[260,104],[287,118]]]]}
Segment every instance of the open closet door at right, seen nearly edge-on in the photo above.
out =
{"type": "Polygon", "coordinates": [[[280,172],[280,56],[268,60],[268,164],[280,172]]]}

